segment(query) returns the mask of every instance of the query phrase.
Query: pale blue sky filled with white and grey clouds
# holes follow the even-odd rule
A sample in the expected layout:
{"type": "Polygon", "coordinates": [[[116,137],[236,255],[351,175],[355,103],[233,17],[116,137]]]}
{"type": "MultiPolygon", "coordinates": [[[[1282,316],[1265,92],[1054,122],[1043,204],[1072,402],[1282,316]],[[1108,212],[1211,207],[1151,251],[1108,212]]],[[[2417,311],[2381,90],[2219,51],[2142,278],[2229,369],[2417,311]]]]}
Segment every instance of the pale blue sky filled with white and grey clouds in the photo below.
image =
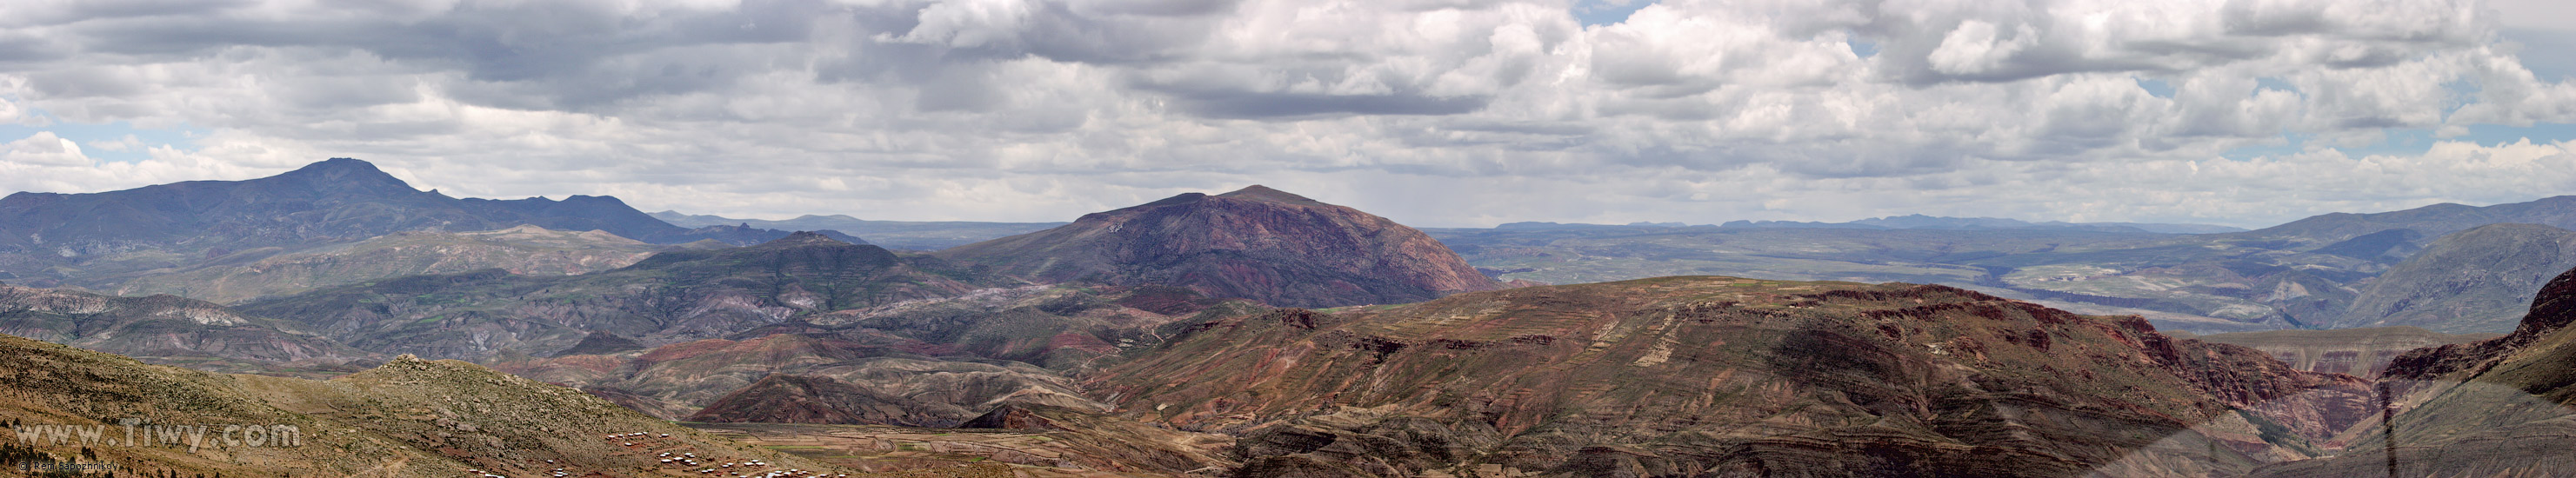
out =
{"type": "Polygon", "coordinates": [[[2555,0],[10,0],[0,193],[2269,226],[2576,193],[2555,0]]]}

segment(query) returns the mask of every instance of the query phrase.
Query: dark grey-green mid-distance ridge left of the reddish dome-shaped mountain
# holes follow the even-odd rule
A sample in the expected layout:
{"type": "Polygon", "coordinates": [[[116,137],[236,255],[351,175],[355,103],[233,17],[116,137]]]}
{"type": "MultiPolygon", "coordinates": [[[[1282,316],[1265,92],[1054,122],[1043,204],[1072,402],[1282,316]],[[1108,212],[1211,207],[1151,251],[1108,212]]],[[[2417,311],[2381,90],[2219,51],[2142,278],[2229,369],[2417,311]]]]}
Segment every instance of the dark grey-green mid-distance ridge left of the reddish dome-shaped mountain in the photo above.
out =
{"type": "Polygon", "coordinates": [[[670,344],[992,285],[1005,283],[930,257],[793,234],[757,247],[662,252],[590,275],[415,275],[237,308],[299,321],[358,350],[492,360],[556,355],[592,332],[670,344]]]}

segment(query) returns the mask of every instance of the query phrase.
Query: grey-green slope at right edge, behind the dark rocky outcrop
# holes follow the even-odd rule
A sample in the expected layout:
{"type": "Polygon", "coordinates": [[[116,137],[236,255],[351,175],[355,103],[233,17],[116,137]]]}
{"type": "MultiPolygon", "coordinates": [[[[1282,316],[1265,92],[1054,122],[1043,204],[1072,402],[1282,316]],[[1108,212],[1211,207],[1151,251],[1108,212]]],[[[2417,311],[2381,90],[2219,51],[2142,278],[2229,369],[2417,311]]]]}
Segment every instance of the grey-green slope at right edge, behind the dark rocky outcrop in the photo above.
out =
{"type": "Polygon", "coordinates": [[[2331,326],[2424,326],[2432,332],[2512,332],[2553,275],[2576,267],[2576,231],[2491,224],[2434,239],[2388,267],[2331,326]]]}

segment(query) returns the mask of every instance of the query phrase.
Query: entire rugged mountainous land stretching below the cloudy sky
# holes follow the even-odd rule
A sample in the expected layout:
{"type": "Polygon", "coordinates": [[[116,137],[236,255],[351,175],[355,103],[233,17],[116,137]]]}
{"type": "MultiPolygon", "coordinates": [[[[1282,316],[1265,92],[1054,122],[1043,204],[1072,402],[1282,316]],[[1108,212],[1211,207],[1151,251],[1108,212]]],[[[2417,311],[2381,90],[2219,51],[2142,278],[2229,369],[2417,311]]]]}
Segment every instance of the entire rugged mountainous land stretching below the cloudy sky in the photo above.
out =
{"type": "Polygon", "coordinates": [[[909,252],[683,229],[613,198],[446,198],[332,159],[0,200],[0,231],[28,231],[0,257],[31,278],[0,285],[0,332],[33,337],[0,337],[0,421],[294,424],[319,447],[193,455],[13,427],[39,439],[0,460],[152,475],[711,475],[659,452],[904,475],[2566,475],[2576,460],[2550,450],[2576,437],[2576,242],[2553,200],[2226,234],[1909,216],[1422,231],[1252,185],[909,252]],[[1615,275],[1669,278],[1597,280],[1615,275]],[[2499,326],[2512,334],[2439,334],[2499,326]],[[2233,329],[2277,332],[2184,334],[2233,329]]]}

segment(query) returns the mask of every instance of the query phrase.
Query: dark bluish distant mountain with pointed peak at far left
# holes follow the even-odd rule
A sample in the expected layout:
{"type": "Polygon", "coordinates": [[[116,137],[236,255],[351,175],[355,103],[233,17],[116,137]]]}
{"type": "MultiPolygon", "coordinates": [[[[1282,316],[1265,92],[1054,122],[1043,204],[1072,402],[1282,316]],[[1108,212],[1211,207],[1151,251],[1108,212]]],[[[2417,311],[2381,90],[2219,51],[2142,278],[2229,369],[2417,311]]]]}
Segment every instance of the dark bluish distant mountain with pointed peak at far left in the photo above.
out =
{"type": "Polygon", "coordinates": [[[654,244],[701,239],[757,244],[788,234],[670,226],[605,195],[448,198],[343,157],[258,180],[191,180],[75,195],[13,193],[0,198],[0,280],[103,288],[113,285],[113,278],[149,270],[240,265],[394,231],[492,231],[520,224],[605,231],[654,244]]]}

